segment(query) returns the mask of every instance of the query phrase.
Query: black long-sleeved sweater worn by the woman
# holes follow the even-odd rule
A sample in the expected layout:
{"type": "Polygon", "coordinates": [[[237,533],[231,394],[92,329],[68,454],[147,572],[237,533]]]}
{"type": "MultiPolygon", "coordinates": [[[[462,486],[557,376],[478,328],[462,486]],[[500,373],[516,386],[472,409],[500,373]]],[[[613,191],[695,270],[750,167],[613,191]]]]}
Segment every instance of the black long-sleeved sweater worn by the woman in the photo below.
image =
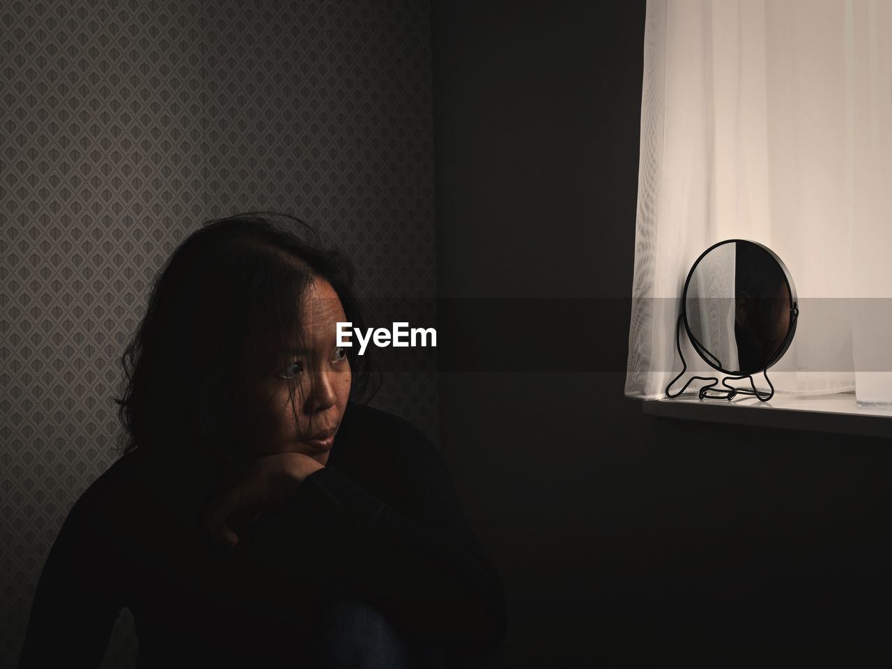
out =
{"type": "Polygon", "coordinates": [[[99,666],[121,608],[138,667],[306,665],[310,612],[335,584],[447,657],[485,657],[505,633],[499,575],[442,458],[392,414],[348,404],[326,468],[296,496],[212,545],[191,505],[138,450],[74,505],[46,560],[20,667],[99,666]]]}

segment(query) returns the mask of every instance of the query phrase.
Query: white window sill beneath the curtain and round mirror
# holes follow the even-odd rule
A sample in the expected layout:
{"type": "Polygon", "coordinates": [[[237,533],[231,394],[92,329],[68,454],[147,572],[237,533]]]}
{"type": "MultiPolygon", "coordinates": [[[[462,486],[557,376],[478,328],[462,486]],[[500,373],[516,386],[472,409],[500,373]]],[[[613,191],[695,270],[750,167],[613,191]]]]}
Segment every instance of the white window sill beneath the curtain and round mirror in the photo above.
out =
{"type": "Polygon", "coordinates": [[[700,400],[693,392],[674,399],[645,400],[641,408],[644,413],[660,418],[892,437],[892,408],[859,407],[854,392],[820,396],[775,395],[768,402],[747,396],[736,397],[731,402],[700,400]]]}

